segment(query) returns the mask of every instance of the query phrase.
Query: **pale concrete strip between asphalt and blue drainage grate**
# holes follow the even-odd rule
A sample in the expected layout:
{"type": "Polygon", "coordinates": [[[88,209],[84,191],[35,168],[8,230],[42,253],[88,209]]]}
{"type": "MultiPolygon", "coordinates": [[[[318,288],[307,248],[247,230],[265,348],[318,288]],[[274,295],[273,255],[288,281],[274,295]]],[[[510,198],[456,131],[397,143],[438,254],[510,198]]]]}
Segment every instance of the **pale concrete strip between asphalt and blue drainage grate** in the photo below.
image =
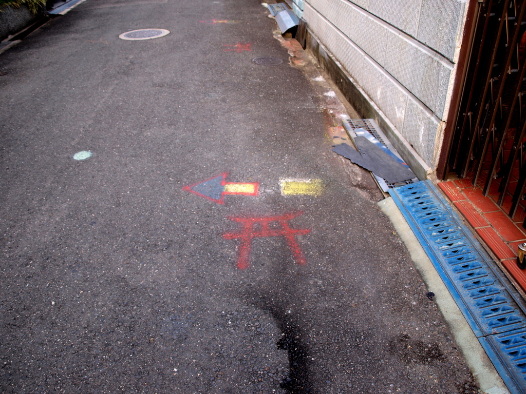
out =
{"type": "Polygon", "coordinates": [[[444,319],[446,319],[474,378],[479,383],[480,390],[487,394],[509,394],[508,388],[493,367],[491,360],[473,334],[466,318],[460,312],[446,285],[442,282],[440,275],[420,246],[417,237],[413,234],[411,227],[409,227],[395,202],[389,197],[380,201],[378,207],[395,226],[398,235],[411,255],[414,266],[420,272],[429,291],[436,294],[435,302],[444,319]]]}

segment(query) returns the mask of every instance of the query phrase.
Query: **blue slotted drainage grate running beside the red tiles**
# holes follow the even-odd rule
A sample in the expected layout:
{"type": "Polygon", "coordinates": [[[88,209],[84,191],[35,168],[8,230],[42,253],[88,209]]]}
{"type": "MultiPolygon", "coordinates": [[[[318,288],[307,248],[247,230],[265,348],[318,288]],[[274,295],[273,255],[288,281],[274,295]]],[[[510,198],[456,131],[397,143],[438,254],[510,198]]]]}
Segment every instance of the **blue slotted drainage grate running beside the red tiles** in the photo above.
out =
{"type": "Polygon", "coordinates": [[[389,193],[508,389],[526,393],[523,300],[430,181],[389,193]]]}

